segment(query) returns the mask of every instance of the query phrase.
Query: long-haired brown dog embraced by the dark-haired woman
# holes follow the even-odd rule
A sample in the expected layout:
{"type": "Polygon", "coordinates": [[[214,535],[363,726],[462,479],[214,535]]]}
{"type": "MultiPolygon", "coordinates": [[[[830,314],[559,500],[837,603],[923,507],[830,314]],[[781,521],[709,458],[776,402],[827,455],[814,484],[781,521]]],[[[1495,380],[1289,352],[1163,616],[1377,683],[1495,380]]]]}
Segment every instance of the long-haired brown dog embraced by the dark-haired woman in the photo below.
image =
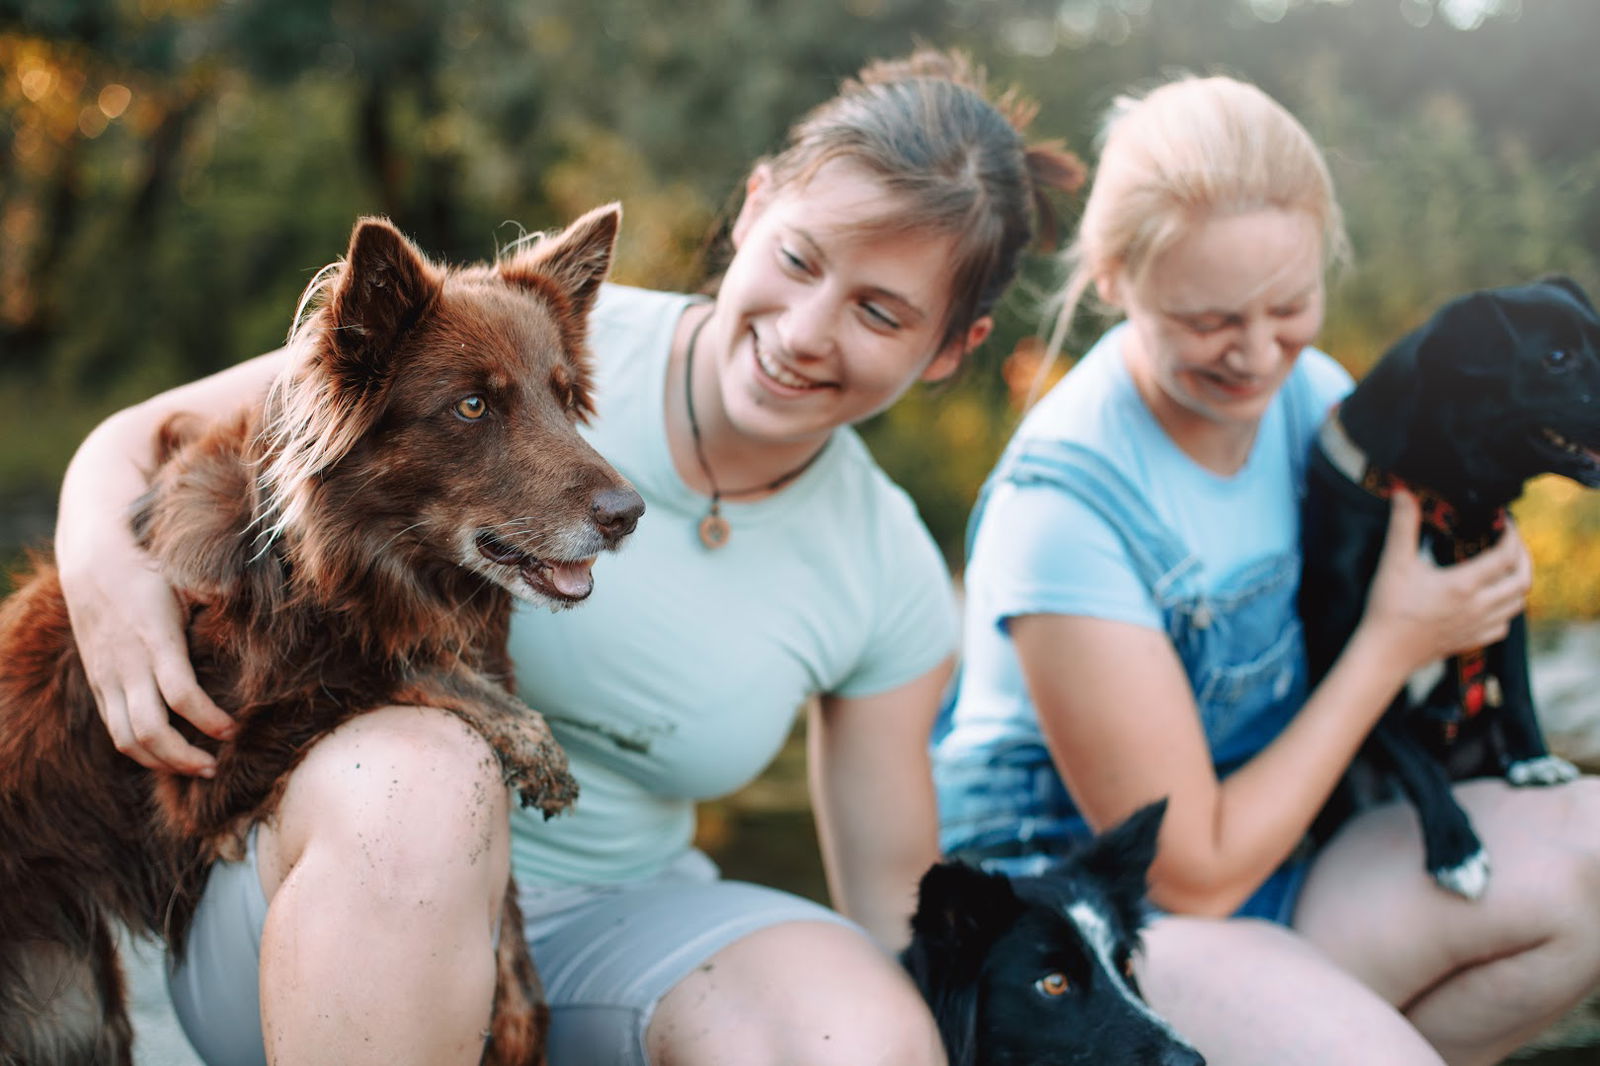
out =
{"type": "MultiPolygon", "coordinates": [[[[432,266],[363,219],[312,283],[291,368],[226,424],[173,419],[134,515],[187,613],[202,685],[235,712],[214,779],[155,773],[101,725],[54,568],[0,605],[0,1063],[130,1063],[112,928],[182,951],[206,872],[349,717],[446,709],[546,815],[576,784],[509,695],[510,595],[565,607],[643,501],[578,435],[586,315],[619,210],[494,266],[432,266]]],[[[544,1004],[515,896],[485,1061],[541,1063],[544,1004]]]]}

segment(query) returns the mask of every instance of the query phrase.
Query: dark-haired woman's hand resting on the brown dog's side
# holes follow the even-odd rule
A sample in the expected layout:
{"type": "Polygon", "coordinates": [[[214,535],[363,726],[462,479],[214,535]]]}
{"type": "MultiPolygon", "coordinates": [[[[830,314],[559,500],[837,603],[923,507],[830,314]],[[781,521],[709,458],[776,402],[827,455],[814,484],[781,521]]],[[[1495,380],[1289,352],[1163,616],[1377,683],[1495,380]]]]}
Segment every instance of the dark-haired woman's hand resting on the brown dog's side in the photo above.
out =
{"type": "Polygon", "coordinates": [[[61,591],[101,720],[117,751],[138,763],[208,778],[216,759],[173,728],[168,707],[218,739],[232,735],[234,719],[195,680],[173,589],[126,523],[114,527],[56,539],[61,591]]]}

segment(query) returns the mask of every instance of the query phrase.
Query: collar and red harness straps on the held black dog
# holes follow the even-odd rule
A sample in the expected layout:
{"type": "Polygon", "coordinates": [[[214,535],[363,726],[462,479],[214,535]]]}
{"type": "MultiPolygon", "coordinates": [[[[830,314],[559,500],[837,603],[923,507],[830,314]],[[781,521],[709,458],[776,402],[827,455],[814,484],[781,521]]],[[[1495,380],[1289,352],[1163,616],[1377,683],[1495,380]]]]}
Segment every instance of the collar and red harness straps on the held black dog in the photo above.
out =
{"type": "MultiPolygon", "coordinates": [[[[1506,509],[1501,507],[1494,512],[1494,520],[1486,530],[1477,536],[1462,536],[1459,533],[1461,512],[1456,506],[1426,485],[1406,482],[1392,471],[1373,466],[1366,453],[1344,431],[1338,407],[1328,413],[1328,419],[1322,424],[1317,443],[1330,466],[1354,485],[1360,485],[1371,496],[1387,501],[1395,491],[1403,490],[1411,493],[1422,509],[1422,523],[1450,543],[1451,555],[1456,562],[1472,559],[1499,541],[1501,533],[1506,531],[1506,509]]],[[[1454,707],[1456,714],[1442,720],[1446,743],[1456,738],[1464,720],[1477,717],[1485,706],[1498,707],[1501,704],[1501,683],[1488,671],[1486,648],[1469,648],[1451,658],[1456,664],[1456,685],[1461,701],[1454,707]]]]}

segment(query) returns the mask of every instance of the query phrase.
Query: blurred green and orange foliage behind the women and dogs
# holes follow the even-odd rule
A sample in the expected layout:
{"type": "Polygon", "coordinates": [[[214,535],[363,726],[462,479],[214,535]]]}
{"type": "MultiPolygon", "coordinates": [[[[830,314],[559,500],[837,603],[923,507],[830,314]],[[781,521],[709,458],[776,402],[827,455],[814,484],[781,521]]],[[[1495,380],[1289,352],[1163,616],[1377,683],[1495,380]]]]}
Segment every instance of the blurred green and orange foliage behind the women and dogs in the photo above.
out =
{"type": "MultiPolygon", "coordinates": [[[[277,346],[358,214],[477,259],[621,198],[616,277],[694,287],[750,162],[917,42],[1085,155],[1115,91],[1173,70],[1277,94],[1341,189],[1323,346],[1360,373],[1462,290],[1600,293],[1595,40],[1590,0],[0,0],[0,551],[106,413],[277,346]]],[[[957,384],[866,427],[954,565],[1053,275],[1029,266],[957,384]]],[[[1600,503],[1538,485],[1522,517],[1534,610],[1595,615],[1600,503]]]]}

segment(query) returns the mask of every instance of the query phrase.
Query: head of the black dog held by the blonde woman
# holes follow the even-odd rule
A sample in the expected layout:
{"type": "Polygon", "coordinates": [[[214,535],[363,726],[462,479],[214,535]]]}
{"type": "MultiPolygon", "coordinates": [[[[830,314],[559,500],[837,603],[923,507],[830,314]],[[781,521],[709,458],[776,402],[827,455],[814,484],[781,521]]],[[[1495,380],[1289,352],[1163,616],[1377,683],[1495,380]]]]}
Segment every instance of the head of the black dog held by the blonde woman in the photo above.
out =
{"type": "Polygon", "coordinates": [[[1565,277],[1454,299],[1341,419],[1373,464],[1458,506],[1501,507],[1538,474],[1600,485],[1600,315],[1565,277]]]}

